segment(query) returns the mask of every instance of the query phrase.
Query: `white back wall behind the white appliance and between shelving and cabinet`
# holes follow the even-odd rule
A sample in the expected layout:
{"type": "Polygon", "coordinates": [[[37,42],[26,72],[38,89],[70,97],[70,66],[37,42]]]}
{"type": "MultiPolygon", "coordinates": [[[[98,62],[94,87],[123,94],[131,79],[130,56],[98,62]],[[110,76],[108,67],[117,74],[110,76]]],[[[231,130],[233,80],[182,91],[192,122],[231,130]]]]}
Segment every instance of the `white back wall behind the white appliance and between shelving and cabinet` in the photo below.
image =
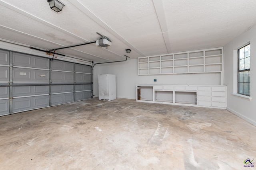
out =
{"type": "Polygon", "coordinates": [[[220,73],[166,74],[138,76],[137,59],[94,67],[94,97],[98,96],[98,74],[116,75],[116,97],[136,99],[136,84],[220,85],[220,73]],[[154,78],[157,82],[154,82],[154,78]]]}

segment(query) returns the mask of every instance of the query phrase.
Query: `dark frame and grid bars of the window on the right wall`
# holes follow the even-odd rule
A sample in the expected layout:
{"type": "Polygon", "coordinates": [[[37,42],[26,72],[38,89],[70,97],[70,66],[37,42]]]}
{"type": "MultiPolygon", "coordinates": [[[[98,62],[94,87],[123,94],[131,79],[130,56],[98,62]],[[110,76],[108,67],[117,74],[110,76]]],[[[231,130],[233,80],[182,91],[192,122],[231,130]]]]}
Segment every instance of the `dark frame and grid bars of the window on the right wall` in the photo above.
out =
{"type": "MultiPolygon", "coordinates": [[[[244,70],[240,70],[240,49],[242,49],[242,48],[244,48],[244,47],[246,47],[246,46],[248,46],[248,45],[250,45],[250,43],[248,43],[248,44],[246,44],[246,45],[244,45],[243,47],[240,47],[238,50],[237,50],[237,60],[238,60],[238,62],[237,62],[237,94],[240,94],[240,95],[244,95],[244,96],[249,96],[250,97],[250,88],[251,87],[249,87],[249,92],[248,92],[248,94],[244,94],[244,93],[240,93],[239,92],[239,73],[240,72],[246,72],[246,71],[249,71],[249,78],[250,78],[250,69],[251,69],[251,52],[250,52],[250,68],[247,68],[247,69],[244,69],[244,70]]],[[[251,49],[250,49],[250,51],[251,51],[251,49]]],[[[248,57],[246,57],[246,58],[248,58],[248,57]]],[[[244,58],[245,59],[245,58],[244,58]]],[[[244,76],[243,76],[244,77],[244,76]]],[[[249,79],[249,84],[250,84],[250,79],[249,79]]],[[[243,82],[244,83],[244,82],[243,82]]]]}

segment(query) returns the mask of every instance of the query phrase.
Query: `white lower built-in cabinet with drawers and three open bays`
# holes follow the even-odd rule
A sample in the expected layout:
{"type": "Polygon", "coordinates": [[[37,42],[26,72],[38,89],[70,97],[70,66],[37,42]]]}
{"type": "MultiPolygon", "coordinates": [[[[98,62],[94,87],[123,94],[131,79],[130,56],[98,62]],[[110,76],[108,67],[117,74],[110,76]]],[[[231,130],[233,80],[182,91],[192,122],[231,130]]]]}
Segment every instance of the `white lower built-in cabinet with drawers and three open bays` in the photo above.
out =
{"type": "Polygon", "coordinates": [[[136,101],[226,109],[226,86],[136,85],[136,101]]]}

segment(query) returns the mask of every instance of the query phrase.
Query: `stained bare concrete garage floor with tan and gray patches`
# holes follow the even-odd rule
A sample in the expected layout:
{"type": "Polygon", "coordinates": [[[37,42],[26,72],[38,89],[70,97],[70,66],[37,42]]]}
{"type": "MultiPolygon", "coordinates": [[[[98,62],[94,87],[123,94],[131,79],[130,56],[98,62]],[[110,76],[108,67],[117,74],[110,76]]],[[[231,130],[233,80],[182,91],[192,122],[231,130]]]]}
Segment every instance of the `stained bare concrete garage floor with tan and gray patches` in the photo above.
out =
{"type": "Polygon", "coordinates": [[[241,170],[255,144],[223,109],[94,98],[0,117],[1,170],[241,170]]]}

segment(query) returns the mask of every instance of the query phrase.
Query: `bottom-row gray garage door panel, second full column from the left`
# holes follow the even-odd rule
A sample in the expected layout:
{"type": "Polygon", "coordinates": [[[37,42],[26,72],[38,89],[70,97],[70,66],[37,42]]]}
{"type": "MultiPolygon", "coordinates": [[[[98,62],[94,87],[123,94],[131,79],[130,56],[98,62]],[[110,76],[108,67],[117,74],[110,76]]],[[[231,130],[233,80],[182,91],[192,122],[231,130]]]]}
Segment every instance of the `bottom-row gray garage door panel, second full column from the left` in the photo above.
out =
{"type": "Polygon", "coordinates": [[[74,93],[52,94],[51,99],[52,99],[52,106],[74,102],[74,93]]]}

